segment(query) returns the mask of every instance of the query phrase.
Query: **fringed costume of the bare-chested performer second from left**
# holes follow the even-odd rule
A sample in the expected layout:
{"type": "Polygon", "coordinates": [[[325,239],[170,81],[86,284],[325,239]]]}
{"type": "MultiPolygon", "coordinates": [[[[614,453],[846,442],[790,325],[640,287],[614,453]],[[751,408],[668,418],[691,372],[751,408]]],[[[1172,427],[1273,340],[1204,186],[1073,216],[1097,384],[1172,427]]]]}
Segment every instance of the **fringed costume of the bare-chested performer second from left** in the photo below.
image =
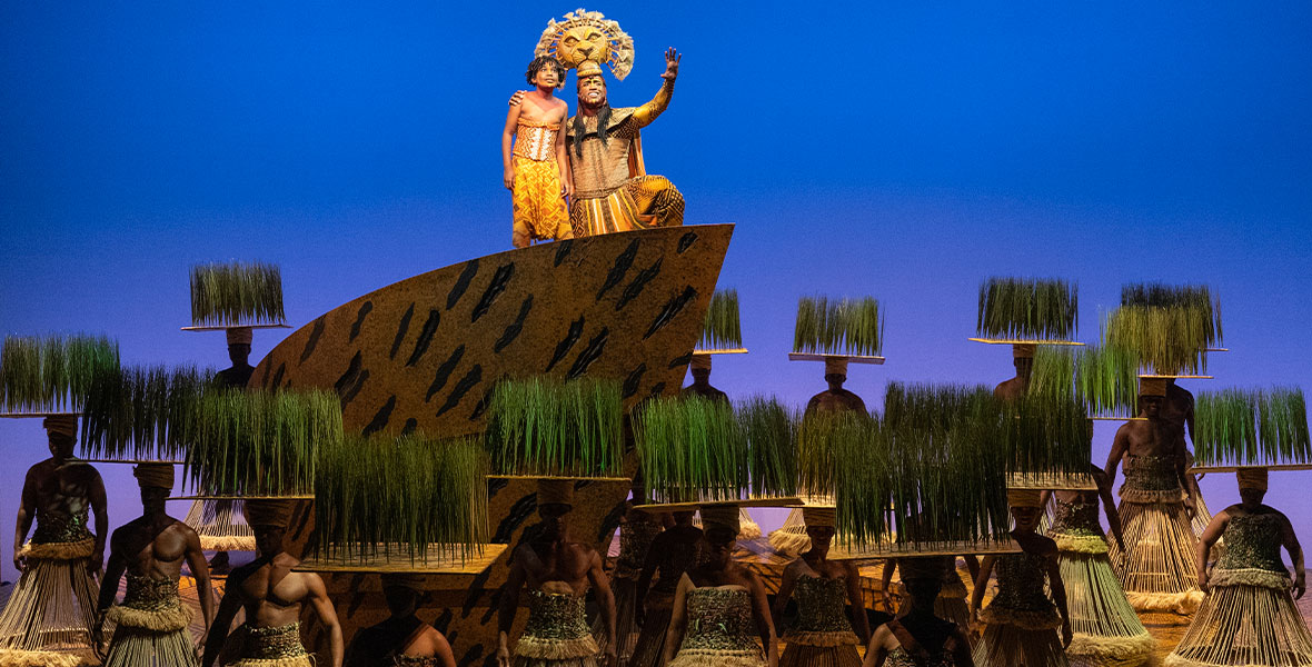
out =
{"type": "Polygon", "coordinates": [[[177,579],[127,575],[127,595],[105,618],[114,625],[105,667],[194,667],[195,647],[186,626],[177,579]]]}

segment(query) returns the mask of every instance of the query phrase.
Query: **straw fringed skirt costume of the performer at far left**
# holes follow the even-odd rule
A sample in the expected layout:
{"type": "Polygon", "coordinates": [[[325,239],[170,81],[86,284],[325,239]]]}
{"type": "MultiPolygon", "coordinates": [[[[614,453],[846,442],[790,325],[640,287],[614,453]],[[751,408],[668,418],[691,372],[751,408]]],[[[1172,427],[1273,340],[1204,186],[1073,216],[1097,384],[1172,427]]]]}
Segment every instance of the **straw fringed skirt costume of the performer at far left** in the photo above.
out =
{"type": "Polygon", "coordinates": [[[91,655],[94,548],[85,511],[50,516],[38,508],[37,530],[22,548],[28,569],[0,612],[0,667],[76,667],[91,655]]]}

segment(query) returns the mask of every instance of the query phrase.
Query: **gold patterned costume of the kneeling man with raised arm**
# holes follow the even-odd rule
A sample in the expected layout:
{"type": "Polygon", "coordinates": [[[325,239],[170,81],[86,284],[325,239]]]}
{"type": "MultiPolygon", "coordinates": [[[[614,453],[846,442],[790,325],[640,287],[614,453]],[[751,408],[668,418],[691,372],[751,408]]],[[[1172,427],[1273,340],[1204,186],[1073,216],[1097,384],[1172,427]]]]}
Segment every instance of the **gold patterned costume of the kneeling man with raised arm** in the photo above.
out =
{"type": "Polygon", "coordinates": [[[646,175],[639,130],[668,106],[674,84],[665,81],[642,106],[610,109],[606,140],[597,135],[598,116],[583,116],[584,133],[569,119],[569,160],[575,198],[569,221],[575,236],[672,227],[684,223],[684,196],[664,176],[646,175]],[[576,146],[579,144],[579,146],[576,146]]]}

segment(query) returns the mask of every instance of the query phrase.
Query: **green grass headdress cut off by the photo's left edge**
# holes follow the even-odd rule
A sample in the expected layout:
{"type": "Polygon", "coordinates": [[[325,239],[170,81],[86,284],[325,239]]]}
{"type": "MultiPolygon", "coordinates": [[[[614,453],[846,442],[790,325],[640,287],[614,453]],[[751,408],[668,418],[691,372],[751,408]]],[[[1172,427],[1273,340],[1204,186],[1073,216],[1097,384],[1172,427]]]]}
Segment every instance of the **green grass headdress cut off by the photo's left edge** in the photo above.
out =
{"type": "Polygon", "coordinates": [[[16,416],[80,412],[97,378],[118,364],[118,344],[105,336],[5,336],[0,406],[16,416]]]}

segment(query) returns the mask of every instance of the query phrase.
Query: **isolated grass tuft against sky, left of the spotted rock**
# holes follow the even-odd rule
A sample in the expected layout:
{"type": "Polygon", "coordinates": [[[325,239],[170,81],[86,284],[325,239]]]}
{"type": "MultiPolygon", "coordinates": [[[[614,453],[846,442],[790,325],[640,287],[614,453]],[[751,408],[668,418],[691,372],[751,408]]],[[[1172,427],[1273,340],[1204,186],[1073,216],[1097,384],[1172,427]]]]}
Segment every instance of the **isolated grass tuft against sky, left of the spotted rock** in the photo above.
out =
{"type": "Polygon", "coordinates": [[[192,267],[192,324],[281,324],[282,270],[274,264],[192,267]]]}

